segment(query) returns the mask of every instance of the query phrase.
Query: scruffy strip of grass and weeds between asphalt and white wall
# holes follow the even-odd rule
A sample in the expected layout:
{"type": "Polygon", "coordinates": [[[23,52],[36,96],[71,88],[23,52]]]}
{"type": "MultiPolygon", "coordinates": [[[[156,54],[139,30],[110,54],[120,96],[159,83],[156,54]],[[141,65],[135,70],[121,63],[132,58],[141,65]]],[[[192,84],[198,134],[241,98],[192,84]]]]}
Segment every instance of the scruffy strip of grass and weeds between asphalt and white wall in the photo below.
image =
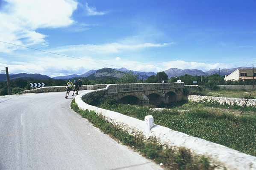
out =
{"type": "Polygon", "coordinates": [[[138,151],[141,155],[152,159],[157,164],[164,164],[168,170],[214,170],[216,167],[210,164],[209,159],[205,156],[194,156],[190,150],[183,147],[168,148],[159,144],[155,138],[144,140],[141,134],[129,135],[94,111],[79,109],[74,100],[71,102],[71,108],[104,133],[138,151]]]}

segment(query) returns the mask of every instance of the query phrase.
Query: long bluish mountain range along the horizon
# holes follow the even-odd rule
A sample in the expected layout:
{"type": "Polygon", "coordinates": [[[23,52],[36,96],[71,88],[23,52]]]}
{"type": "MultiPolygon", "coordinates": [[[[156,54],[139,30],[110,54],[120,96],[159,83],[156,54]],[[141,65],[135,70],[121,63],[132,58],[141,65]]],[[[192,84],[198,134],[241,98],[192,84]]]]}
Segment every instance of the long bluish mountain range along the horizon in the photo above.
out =
{"type": "MultiPolygon", "coordinates": [[[[213,74],[220,74],[221,75],[229,75],[236,69],[250,69],[250,67],[237,67],[237,68],[232,68],[232,69],[210,69],[209,71],[203,72],[200,69],[177,69],[177,68],[171,68],[167,69],[164,72],[168,75],[169,78],[171,77],[177,77],[181,75],[213,75],[213,74]]],[[[77,74],[72,74],[72,75],[64,75],[64,76],[57,76],[50,78],[47,75],[41,75],[41,74],[27,74],[27,73],[19,73],[19,74],[10,74],[9,77],[10,79],[16,79],[16,78],[24,78],[24,79],[71,79],[71,78],[81,78],[81,77],[87,77],[90,80],[97,79],[97,78],[103,78],[103,77],[112,77],[112,78],[121,78],[125,73],[127,72],[132,72],[133,74],[136,74],[138,76],[138,79],[147,79],[151,75],[156,75],[155,72],[141,72],[141,71],[135,71],[135,70],[129,70],[126,68],[103,68],[103,69],[92,69],[89,70],[88,72],[85,72],[84,74],[77,75],[77,74]]],[[[5,74],[0,74],[0,81],[6,81],[6,75],[5,74]]]]}

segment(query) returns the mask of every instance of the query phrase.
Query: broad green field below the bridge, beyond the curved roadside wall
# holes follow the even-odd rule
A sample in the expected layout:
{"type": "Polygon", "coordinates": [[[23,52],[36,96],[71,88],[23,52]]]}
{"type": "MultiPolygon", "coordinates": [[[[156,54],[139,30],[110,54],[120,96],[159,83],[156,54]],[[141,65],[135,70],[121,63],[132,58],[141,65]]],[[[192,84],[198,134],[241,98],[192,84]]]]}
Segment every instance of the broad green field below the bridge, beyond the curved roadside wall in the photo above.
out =
{"type": "Polygon", "coordinates": [[[117,104],[113,100],[104,100],[97,106],[141,120],[153,115],[154,122],[161,126],[256,156],[255,115],[234,116],[200,107],[191,107],[184,113],[167,109],[152,111],[149,107],[117,104]]]}

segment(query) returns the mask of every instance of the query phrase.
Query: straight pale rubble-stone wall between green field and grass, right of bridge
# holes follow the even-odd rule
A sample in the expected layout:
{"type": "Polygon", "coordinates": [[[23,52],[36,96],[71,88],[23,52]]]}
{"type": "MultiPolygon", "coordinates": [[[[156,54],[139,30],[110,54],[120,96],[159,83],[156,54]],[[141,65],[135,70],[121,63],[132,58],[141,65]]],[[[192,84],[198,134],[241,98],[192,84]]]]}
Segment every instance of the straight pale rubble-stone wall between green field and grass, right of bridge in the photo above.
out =
{"type": "MultiPolygon", "coordinates": [[[[230,106],[244,106],[247,99],[245,98],[224,98],[215,96],[188,95],[188,101],[197,103],[212,103],[230,106]]],[[[249,99],[247,107],[256,107],[256,99],[249,99]]]]}

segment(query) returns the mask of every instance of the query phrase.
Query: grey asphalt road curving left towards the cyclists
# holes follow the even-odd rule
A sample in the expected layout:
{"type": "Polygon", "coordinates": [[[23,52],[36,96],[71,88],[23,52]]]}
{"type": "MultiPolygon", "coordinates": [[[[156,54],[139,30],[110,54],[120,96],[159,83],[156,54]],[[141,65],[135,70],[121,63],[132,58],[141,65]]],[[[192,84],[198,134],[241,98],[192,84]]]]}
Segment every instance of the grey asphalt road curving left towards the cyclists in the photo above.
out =
{"type": "Polygon", "coordinates": [[[161,170],[77,115],[64,97],[0,96],[0,170],[161,170]]]}

